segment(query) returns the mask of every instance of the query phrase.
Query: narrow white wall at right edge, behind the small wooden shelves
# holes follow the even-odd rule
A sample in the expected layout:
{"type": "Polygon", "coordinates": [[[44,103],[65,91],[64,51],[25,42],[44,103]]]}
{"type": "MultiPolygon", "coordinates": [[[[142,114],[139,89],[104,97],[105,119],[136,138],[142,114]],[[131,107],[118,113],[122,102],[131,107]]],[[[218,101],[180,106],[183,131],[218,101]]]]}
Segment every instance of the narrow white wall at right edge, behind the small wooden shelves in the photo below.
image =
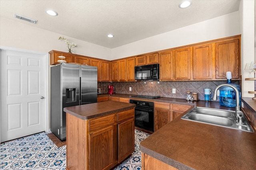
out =
{"type": "MultiPolygon", "coordinates": [[[[249,73],[244,71],[246,63],[254,61],[254,1],[241,0],[239,6],[239,20],[241,38],[241,74],[242,74],[242,97],[254,97],[248,91],[254,91],[254,81],[244,80],[249,78],[249,73]]],[[[251,73],[252,76],[253,73],[251,73]]]]}

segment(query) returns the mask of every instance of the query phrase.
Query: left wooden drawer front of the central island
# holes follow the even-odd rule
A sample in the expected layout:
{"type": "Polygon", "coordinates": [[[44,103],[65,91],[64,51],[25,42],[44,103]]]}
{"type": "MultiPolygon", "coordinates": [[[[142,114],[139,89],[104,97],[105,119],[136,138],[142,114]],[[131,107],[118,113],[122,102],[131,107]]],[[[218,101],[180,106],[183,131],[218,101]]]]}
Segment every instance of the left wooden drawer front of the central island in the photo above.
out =
{"type": "Polygon", "coordinates": [[[89,131],[95,131],[115,123],[115,115],[108,115],[89,120],[89,131]]]}

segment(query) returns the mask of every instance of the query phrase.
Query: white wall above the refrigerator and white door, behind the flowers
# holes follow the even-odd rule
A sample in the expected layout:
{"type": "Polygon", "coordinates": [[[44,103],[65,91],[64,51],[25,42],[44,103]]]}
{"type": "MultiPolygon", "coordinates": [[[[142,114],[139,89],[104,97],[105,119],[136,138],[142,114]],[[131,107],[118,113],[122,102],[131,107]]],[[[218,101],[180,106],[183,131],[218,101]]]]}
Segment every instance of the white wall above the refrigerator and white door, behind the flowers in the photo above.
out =
{"type": "Polygon", "coordinates": [[[18,49],[28,49],[48,53],[51,50],[68,52],[68,47],[58,37],[65,37],[74,42],[78,47],[72,48],[74,54],[96,57],[99,59],[111,60],[111,49],[60,35],[51,31],[34,27],[33,24],[24,23],[0,18],[0,45],[18,49]]]}

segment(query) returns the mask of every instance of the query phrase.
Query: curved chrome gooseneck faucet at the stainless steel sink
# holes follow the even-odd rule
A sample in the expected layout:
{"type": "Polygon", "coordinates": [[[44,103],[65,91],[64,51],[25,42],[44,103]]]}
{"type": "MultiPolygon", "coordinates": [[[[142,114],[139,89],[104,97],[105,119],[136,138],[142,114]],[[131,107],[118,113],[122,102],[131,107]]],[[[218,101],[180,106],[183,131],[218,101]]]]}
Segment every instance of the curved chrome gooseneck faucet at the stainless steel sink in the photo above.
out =
{"type": "Polygon", "coordinates": [[[239,124],[243,124],[243,120],[242,118],[244,117],[243,116],[243,112],[240,111],[240,106],[239,106],[239,101],[240,101],[240,98],[239,98],[239,91],[238,89],[233,86],[232,84],[220,84],[219,86],[217,86],[214,90],[214,94],[213,94],[213,97],[212,97],[212,100],[217,100],[217,90],[223,86],[228,86],[228,87],[231,87],[235,90],[236,92],[236,121],[239,123],[239,124]]]}

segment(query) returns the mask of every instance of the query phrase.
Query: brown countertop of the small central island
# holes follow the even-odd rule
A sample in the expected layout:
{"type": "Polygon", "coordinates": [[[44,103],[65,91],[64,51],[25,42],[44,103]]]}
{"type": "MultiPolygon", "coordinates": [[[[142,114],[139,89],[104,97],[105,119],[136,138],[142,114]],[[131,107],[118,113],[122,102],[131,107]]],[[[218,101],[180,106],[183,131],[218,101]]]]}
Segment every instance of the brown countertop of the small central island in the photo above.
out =
{"type": "Polygon", "coordinates": [[[118,111],[134,108],[135,104],[128,104],[122,102],[98,102],[92,104],[84,104],[79,106],[65,107],[64,111],[70,113],[80,119],[87,120],[103,115],[108,115],[118,111]]]}

